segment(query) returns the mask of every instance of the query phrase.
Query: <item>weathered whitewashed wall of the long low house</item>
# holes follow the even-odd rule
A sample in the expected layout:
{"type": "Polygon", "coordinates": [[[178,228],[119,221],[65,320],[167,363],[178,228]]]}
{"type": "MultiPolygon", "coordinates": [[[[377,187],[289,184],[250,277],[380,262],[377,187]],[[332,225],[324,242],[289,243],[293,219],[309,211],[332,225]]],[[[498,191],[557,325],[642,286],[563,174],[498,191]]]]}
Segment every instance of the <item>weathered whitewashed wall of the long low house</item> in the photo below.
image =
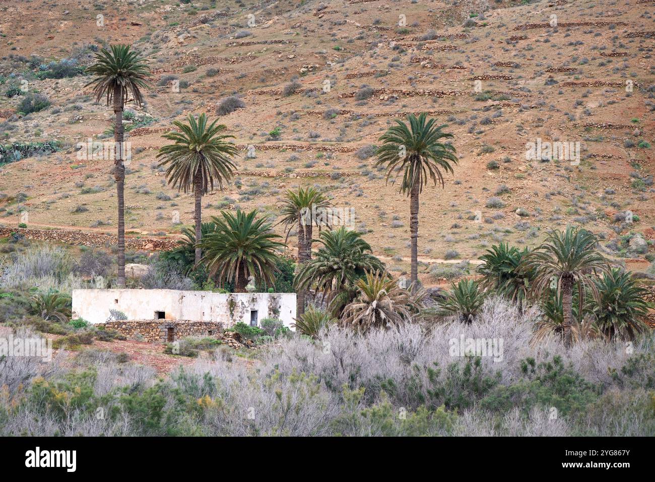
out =
{"type": "Polygon", "coordinates": [[[257,322],[279,318],[291,328],[295,321],[295,293],[212,293],[176,289],[73,289],[73,318],[96,324],[119,310],[128,320],[153,320],[163,311],[166,320],[237,322],[250,324],[250,311],[257,310],[257,322]]]}

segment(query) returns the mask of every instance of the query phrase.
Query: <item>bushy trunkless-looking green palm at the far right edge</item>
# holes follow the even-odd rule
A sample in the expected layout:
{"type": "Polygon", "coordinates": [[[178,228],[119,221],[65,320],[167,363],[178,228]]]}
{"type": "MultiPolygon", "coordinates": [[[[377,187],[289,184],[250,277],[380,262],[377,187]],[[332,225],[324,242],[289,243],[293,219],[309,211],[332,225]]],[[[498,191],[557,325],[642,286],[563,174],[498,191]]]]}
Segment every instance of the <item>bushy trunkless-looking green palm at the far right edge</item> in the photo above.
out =
{"type": "Polygon", "coordinates": [[[634,339],[646,329],[643,322],[650,303],[645,301],[648,289],[637,286],[629,272],[617,268],[594,280],[599,292],[599,303],[593,313],[599,329],[609,338],[634,339]]]}

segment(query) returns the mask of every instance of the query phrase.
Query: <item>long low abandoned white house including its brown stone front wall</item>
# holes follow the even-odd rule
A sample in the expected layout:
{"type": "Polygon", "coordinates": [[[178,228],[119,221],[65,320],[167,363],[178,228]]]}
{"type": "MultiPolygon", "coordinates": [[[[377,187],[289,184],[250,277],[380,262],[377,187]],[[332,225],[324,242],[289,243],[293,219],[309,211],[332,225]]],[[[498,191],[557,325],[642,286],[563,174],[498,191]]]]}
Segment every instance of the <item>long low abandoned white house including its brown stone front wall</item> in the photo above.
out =
{"type": "Polygon", "coordinates": [[[73,318],[150,342],[212,336],[238,322],[278,318],[293,329],[295,293],[214,293],[176,289],[73,289],[73,318]]]}

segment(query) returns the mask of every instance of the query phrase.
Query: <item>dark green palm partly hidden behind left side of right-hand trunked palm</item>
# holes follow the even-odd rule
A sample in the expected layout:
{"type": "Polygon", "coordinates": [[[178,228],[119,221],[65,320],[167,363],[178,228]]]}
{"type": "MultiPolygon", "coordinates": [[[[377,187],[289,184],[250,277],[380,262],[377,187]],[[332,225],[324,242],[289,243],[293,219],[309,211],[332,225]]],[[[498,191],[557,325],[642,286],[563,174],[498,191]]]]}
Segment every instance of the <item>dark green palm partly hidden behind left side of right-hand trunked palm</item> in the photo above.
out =
{"type": "Polygon", "coordinates": [[[491,246],[485,255],[480,256],[483,261],[477,267],[478,272],[483,275],[480,286],[484,289],[493,289],[499,295],[504,295],[523,306],[534,279],[534,270],[522,272],[519,266],[529,253],[528,248],[519,251],[503,242],[498,246],[491,246]]]}

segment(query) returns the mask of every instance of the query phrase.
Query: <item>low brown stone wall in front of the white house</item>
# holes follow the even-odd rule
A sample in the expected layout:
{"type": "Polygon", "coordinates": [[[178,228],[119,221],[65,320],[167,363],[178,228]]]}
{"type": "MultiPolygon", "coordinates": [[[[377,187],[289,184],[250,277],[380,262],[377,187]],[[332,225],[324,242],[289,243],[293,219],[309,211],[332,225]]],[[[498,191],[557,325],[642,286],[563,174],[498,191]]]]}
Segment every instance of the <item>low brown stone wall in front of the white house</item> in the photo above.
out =
{"type": "Polygon", "coordinates": [[[106,322],[96,326],[113,329],[128,338],[136,333],[150,343],[168,341],[168,329],[172,328],[172,341],[189,336],[216,336],[223,331],[223,324],[218,322],[195,322],[191,320],[124,320],[106,322]]]}

